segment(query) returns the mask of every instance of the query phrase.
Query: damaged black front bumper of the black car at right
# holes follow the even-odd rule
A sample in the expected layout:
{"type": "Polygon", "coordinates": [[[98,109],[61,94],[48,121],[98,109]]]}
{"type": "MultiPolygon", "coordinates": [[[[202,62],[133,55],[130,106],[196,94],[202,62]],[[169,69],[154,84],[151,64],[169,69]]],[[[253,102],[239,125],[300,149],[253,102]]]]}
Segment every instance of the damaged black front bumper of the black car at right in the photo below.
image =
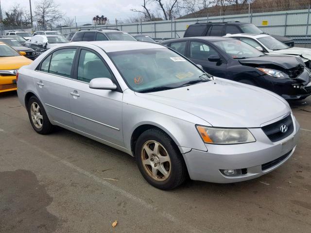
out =
{"type": "Polygon", "coordinates": [[[311,76],[307,68],[292,79],[278,79],[269,75],[262,75],[264,81],[261,87],[275,92],[285,100],[303,100],[311,95],[311,76]]]}

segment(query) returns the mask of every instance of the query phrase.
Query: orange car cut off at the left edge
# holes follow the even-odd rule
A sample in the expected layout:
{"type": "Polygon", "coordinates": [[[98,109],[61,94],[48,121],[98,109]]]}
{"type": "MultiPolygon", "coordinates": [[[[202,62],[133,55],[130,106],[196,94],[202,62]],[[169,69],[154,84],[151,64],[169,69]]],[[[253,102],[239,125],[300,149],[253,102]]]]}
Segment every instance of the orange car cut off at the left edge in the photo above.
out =
{"type": "Polygon", "coordinates": [[[0,93],[17,90],[16,73],[32,60],[24,57],[25,52],[17,52],[12,47],[0,42],[0,93]]]}

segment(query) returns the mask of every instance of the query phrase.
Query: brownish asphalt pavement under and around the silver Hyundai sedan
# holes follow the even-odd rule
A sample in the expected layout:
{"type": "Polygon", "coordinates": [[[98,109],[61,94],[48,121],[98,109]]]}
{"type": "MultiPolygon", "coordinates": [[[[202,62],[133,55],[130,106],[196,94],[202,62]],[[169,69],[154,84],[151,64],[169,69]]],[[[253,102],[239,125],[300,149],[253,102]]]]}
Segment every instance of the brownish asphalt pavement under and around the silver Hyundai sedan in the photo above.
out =
{"type": "Polygon", "coordinates": [[[291,105],[300,140],[283,166],[162,191],[119,150],[63,129],[35,133],[16,92],[2,93],[0,233],[310,233],[311,98],[291,105]]]}

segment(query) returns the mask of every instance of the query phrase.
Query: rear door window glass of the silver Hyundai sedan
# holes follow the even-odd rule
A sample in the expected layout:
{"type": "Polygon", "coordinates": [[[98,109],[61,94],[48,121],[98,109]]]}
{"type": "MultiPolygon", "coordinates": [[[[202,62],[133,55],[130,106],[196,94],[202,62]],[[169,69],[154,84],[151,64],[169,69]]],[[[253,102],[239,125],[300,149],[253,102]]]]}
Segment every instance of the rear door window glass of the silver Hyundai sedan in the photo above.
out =
{"type": "Polygon", "coordinates": [[[76,49],[56,50],[52,54],[49,73],[69,78],[76,49]]]}

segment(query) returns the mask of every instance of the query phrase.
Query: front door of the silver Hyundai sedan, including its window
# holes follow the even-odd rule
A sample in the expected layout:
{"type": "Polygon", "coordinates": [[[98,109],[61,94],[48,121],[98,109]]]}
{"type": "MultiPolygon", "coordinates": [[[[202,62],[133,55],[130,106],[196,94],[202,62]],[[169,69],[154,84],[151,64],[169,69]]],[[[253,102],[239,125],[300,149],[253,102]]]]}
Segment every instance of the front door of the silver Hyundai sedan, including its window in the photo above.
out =
{"type": "Polygon", "coordinates": [[[110,78],[116,83],[111,70],[101,55],[81,49],[75,70],[76,81],[70,83],[69,102],[73,123],[77,130],[106,142],[123,146],[122,97],[118,90],[89,88],[94,78],[110,78]]]}

